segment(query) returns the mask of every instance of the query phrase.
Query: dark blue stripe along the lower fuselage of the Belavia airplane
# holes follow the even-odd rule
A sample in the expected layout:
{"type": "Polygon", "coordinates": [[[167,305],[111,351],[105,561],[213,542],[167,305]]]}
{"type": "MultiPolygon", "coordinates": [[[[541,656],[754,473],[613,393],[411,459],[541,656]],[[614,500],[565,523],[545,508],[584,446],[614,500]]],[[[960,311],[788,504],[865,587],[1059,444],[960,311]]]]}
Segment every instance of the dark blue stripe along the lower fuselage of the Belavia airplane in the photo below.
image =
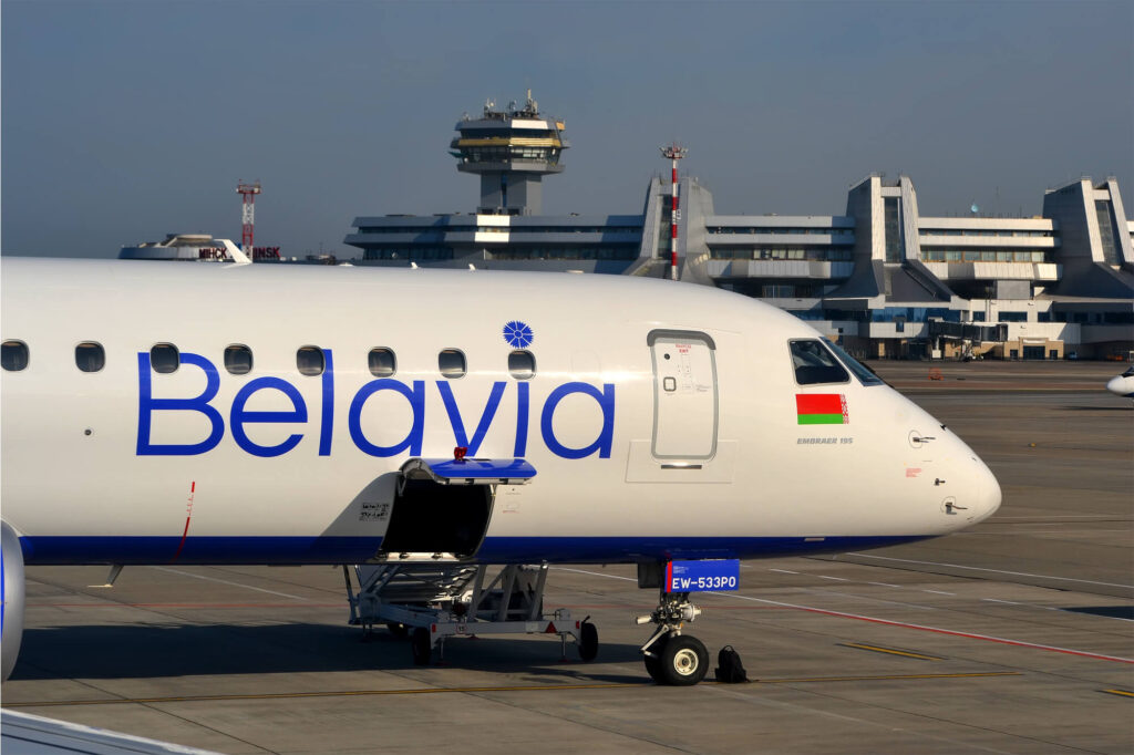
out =
{"type": "MultiPolygon", "coordinates": [[[[838,553],[898,545],[931,535],[888,537],[486,537],[486,563],[631,563],[670,559],[753,559],[838,553]]],[[[24,562],[81,563],[361,563],[378,537],[22,537],[24,562]]]]}

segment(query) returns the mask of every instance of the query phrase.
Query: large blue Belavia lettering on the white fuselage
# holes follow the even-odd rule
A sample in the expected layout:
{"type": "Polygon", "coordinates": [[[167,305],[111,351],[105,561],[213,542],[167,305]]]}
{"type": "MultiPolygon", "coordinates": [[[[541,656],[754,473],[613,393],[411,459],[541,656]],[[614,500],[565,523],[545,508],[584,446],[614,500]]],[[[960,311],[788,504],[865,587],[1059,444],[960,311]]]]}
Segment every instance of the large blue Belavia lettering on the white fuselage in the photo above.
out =
{"type": "MultiPolygon", "coordinates": [[[[167,375],[154,372],[149,351],[138,351],[137,456],[206,453],[220,446],[227,431],[239,449],[261,458],[282,456],[303,442],[314,452],[316,441],[319,456],[331,456],[332,444],[338,442],[342,447],[347,439],[356,450],[374,457],[421,456],[426,442],[467,448],[472,457],[492,430],[500,405],[505,401],[511,404],[511,397],[515,397],[515,427],[510,421],[496,419],[497,426],[507,423],[503,432],[513,433],[515,457],[527,455],[528,429],[538,426],[543,446],[560,458],[583,459],[593,453],[601,459],[610,458],[615,435],[615,383],[599,387],[583,382],[536,384],[535,381],[497,380],[467,383],[455,390],[454,381],[449,380],[430,381],[432,384],[429,384],[424,380],[401,382],[382,378],[359,385],[357,374],[349,370],[345,375],[336,374],[331,349],[322,349],[322,353],[325,370],[318,382],[293,383],[264,375],[242,382],[231,398],[227,398],[231,393],[226,393],[226,398],[218,399],[220,371],[203,355],[181,351],[179,364],[185,366],[186,372],[198,371],[198,388],[189,389],[189,396],[170,397],[168,391],[174,389],[169,387],[167,375]],[[201,378],[204,379],[204,390],[193,396],[194,390],[201,390],[201,378]],[[336,401],[347,404],[344,395],[349,399],[345,416],[341,409],[336,410],[336,401]],[[575,395],[594,401],[601,417],[598,423],[592,422],[591,427],[596,435],[593,442],[585,446],[567,446],[559,440],[567,432],[573,432],[573,438],[578,434],[578,429],[569,424],[572,417],[568,410],[557,412],[568,397],[575,397],[572,405],[577,407],[575,395]],[[264,408],[265,398],[276,399],[277,406],[272,410],[264,408]],[[282,408],[279,406],[280,398],[285,401],[282,408]],[[405,406],[399,413],[401,419],[396,421],[392,427],[389,418],[381,414],[382,409],[375,407],[380,405],[389,410],[390,400],[395,406],[401,402],[405,406]],[[174,418],[194,415],[194,419],[174,418]],[[340,427],[338,434],[335,432],[336,417],[340,427]],[[202,419],[205,422],[202,423],[202,419]],[[344,419],[347,433],[341,429],[344,419]],[[201,440],[205,426],[209,427],[209,435],[201,440]],[[272,436],[276,442],[266,440],[272,436]],[[445,440],[438,441],[438,438],[445,440]]],[[[176,384],[185,390],[184,383],[176,384]]],[[[587,436],[590,431],[583,434],[587,436]]],[[[497,442],[500,442],[499,438],[497,442]]],[[[572,442],[578,443],[577,438],[572,442]]]]}

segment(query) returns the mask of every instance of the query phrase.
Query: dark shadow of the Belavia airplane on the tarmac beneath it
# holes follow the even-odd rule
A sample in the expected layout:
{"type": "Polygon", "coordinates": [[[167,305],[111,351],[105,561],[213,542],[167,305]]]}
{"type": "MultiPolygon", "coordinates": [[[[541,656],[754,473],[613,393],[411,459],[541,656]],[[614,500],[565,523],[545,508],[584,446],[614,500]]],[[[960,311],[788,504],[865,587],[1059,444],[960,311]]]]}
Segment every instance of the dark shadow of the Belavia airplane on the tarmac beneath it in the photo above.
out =
{"type": "MultiPolygon", "coordinates": [[[[434,650],[434,660],[438,653],[434,650]]],[[[452,638],[445,665],[545,681],[549,676],[587,681],[635,682],[642,675],[591,673],[595,664],[641,664],[637,645],[601,644],[592,663],[568,643],[560,660],[558,637],[519,635],[452,638]]],[[[435,665],[435,664],[434,664],[435,665]]],[[[420,668],[408,641],[376,629],[319,623],[70,626],[24,631],[14,681],[22,679],[130,679],[312,671],[382,671],[420,668]]],[[[515,679],[509,680],[515,684],[515,679]]]]}

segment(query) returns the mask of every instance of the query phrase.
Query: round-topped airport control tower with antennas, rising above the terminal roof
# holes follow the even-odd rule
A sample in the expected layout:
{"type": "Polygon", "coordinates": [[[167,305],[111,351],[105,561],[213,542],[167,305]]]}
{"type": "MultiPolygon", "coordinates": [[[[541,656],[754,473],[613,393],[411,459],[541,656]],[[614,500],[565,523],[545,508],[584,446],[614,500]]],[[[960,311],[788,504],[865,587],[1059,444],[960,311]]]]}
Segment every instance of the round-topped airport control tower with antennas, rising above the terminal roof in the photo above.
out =
{"type": "Polygon", "coordinates": [[[457,170],[479,173],[481,201],[476,212],[500,215],[542,214],[542,179],[562,171],[559,155],[570,146],[562,138],[561,120],[542,118],[527,91],[527,102],[517,109],[496,110],[484,103],[484,114],[466,114],[456,126],[459,136],[449,145],[460,163],[457,170]]]}

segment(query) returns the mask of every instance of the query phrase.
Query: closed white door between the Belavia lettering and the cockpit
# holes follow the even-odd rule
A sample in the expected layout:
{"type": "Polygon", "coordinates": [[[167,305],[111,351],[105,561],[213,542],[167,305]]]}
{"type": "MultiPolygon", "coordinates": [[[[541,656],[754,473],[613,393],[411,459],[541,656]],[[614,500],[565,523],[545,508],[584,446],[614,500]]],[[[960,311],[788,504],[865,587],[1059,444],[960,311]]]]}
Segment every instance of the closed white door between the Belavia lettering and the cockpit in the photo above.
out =
{"type": "Polygon", "coordinates": [[[655,330],[653,356],[653,456],[710,459],[717,452],[719,399],[716,343],[705,333],[655,330]]]}

